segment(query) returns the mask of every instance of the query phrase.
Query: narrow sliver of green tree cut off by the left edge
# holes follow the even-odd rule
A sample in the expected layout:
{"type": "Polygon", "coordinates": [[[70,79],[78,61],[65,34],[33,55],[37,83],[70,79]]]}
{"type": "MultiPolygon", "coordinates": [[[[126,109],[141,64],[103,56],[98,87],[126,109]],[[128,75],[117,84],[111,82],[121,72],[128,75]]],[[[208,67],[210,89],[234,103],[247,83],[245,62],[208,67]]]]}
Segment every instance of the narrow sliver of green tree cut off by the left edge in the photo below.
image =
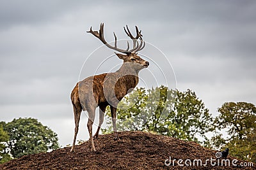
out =
{"type": "Polygon", "coordinates": [[[7,132],[4,131],[2,125],[0,125],[0,164],[8,162],[12,158],[6,153],[6,143],[9,141],[7,132]]]}

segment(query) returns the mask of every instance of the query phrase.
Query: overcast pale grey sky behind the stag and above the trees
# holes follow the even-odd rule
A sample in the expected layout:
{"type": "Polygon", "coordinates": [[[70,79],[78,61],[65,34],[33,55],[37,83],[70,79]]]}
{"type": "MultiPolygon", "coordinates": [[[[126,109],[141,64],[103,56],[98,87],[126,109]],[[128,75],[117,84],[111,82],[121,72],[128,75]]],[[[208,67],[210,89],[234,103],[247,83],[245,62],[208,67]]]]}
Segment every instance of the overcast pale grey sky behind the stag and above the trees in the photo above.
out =
{"type": "MultiPolygon", "coordinates": [[[[134,25],[142,30],[147,45],[140,53],[150,67],[141,71],[140,87],[194,90],[212,115],[228,101],[255,104],[255,11],[256,1],[3,0],[0,120],[37,118],[58,134],[61,145],[72,143],[70,92],[80,71],[83,79],[122,64],[113,50],[86,33],[101,22],[108,41],[114,40],[113,31],[118,39],[127,38],[126,24],[132,32],[134,25]]],[[[77,139],[88,139],[86,123],[83,114],[77,139]]]]}

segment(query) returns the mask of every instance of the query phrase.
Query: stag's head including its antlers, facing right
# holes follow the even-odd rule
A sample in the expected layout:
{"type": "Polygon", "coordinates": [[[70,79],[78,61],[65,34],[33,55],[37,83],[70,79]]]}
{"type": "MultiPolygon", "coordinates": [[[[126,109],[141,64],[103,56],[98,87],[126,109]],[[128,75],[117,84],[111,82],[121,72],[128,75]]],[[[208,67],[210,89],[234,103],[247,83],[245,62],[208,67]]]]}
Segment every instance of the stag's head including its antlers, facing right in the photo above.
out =
{"type": "Polygon", "coordinates": [[[115,45],[114,46],[109,45],[109,43],[104,38],[103,23],[100,24],[99,32],[92,31],[92,27],[90,28],[90,31],[87,31],[87,32],[90,32],[91,34],[93,34],[93,36],[99,38],[100,41],[104,43],[104,45],[108,46],[108,48],[111,48],[113,50],[120,52],[120,53],[116,53],[116,55],[119,57],[119,59],[124,60],[125,65],[132,66],[132,68],[136,69],[136,71],[140,71],[141,69],[148,67],[149,62],[141,59],[141,57],[138,56],[137,52],[142,50],[145,47],[145,42],[142,39],[141,31],[139,31],[137,26],[135,26],[135,28],[136,28],[136,37],[132,36],[127,25],[126,25],[126,28],[124,27],[125,33],[127,34],[127,36],[129,36],[129,38],[132,39],[132,42],[133,42],[133,47],[131,50],[129,49],[130,47],[129,47],[128,41],[127,41],[127,49],[124,50],[117,47],[117,38],[116,38],[115,32],[113,32],[115,36],[115,45]],[[138,40],[140,40],[140,43],[138,42],[138,40]]]}

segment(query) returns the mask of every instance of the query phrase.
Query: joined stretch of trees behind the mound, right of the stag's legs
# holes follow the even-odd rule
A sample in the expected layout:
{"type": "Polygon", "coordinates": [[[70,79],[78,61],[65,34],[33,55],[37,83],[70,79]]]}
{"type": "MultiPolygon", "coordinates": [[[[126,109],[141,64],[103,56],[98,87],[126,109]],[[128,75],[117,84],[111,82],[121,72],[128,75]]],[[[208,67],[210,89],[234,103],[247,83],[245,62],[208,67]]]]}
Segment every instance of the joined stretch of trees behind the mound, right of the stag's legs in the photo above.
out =
{"type": "MultiPolygon", "coordinates": [[[[255,105],[227,102],[217,111],[213,117],[189,89],[138,88],[118,104],[116,126],[118,131],[153,132],[216,150],[229,148],[230,155],[256,162],[255,105]]],[[[105,134],[112,131],[109,108],[106,115],[107,128],[102,129],[105,134]]]]}

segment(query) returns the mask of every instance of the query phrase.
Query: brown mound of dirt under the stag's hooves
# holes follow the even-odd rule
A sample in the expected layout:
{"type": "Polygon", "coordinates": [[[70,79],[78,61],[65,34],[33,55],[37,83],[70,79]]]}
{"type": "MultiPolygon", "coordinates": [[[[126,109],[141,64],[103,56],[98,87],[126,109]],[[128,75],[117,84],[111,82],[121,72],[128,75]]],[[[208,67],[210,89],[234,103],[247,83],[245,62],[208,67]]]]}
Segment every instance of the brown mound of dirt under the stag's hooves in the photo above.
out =
{"type": "Polygon", "coordinates": [[[212,164],[215,162],[212,166],[211,158],[216,159],[216,151],[193,142],[146,132],[119,132],[119,137],[119,141],[114,141],[112,134],[99,135],[95,140],[96,152],[90,151],[86,141],[77,145],[73,153],[66,147],[50,153],[26,155],[0,165],[0,169],[255,169],[255,165],[254,168],[241,167],[241,162],[245,162],[241,160],[236,162],[237,166],[232,166],[236,158],[230,156],[230,166],[228,162],[227,166],[224,162],[221,166],[221,159],[212,160],[212,164]],[[184,166],[178,165],[179,159],[184,166]],[[198,159],[202,160],[202,166],[198,159]]]}

